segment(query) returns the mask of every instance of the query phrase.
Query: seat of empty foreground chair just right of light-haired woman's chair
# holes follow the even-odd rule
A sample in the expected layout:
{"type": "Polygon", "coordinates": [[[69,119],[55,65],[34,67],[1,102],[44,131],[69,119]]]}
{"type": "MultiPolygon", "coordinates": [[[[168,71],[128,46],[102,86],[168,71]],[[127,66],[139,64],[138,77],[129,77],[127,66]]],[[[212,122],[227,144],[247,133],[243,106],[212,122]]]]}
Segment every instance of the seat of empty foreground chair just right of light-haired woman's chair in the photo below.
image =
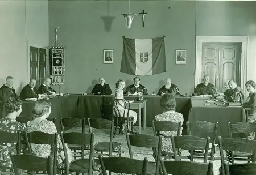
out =
{"type": "MultiPolygon", "coordinates": [[[[94,167],[100,168],[100,160],[94,159],[94,167]]],[[[89,159],[75,159],[69,163],[69,170],[76,173],[86,173],[89,169],[89,159]]],[[[100,170],[99,170],[100,171],[100,170]]]]}

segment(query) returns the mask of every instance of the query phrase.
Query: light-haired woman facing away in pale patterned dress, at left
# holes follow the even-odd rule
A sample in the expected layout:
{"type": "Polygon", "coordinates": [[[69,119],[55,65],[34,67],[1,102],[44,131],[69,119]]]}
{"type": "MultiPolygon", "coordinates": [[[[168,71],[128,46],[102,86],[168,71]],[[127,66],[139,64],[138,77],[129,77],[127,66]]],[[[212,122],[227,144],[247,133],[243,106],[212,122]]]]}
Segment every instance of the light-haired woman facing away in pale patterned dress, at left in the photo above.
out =
{"type": "MultiPolygon", "coordinates": [[[[35,118],[32,119],[32,121],[27,123],[28,133],[34,132],[34,131],[39,131],[39,132],[49,133],[49,134],[57,133],[55,124],[52,121],[46,120],[46,118],[49,117],[49,114],[51,114],[51,105],[52,104],[49,100],[41,99],[36,101],[34,109],[32,111],[35,118]]],[[[69,150],[67,145],[66,147],[68,152],[68,160],[69,162],[71,162],[72,161],[71,150],[69,150]]],[[[39,156],[39,157],[48,157],[50,155],[53,155],[53,150],[52,150],[53,148],[54,147],[51,145],[31,143],[32,153],[34,153],[36,156],[39,156]]],[[[63,146],[60,140],[60,136],[58,136],[58,140],[57,140],[58,165],[64,163],[64,160],[65,160],[65,157],[64,157],[63,146]]]]}

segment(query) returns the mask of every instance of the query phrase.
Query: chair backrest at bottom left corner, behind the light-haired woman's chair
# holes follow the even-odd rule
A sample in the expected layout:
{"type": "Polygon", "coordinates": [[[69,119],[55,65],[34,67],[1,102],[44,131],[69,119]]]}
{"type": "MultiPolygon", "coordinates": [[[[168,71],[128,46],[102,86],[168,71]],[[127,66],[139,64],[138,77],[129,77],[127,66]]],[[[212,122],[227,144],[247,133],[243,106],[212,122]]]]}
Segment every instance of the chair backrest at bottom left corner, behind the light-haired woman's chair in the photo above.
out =
{"type": "Polygon", "coordinates": [[[32,171],[32,174],[39,171],[47,171],[48,174],[53,174],[52,156],[43,158],[27,154],[11,155],[11,161],[13,162],[14,173],[17,175],[20,175],[18,168],[32,171]]]}

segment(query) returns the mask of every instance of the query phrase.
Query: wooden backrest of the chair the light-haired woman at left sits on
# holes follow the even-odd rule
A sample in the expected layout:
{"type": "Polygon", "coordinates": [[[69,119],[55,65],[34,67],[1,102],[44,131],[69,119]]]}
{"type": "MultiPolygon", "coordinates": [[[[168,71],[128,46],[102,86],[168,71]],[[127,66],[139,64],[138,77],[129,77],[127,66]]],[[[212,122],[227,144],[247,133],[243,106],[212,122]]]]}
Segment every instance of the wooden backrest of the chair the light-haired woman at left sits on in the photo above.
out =
{"type": "Polygon", "coordinates": [[[40,131],[25,133],[26,143],[28,147],[28,152],[32,154],[32,148],[31,143],[34,144],[49,144],[52,147],[53,150],[53,168],[54,168],[54,174],[56,174],[56,168],[57,168],[57,139],[58,139],[58,133],[55,134],[49,134],[49,133],[43,133],[40,131]]]}

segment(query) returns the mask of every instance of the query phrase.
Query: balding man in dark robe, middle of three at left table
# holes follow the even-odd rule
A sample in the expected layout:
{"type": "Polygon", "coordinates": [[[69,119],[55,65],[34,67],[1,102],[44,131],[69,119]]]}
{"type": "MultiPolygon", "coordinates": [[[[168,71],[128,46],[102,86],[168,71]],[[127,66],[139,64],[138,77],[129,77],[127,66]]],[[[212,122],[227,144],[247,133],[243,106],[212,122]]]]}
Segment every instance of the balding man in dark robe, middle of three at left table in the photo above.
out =
{"type": "Polygon", "coordinates": [[[28,83],[20,92],[20,99],[25,100],[27,98],[38,98],[45,97],[47,94],[38,94],[38,90],[36,89],[36,80],[30,79],[30,83],[28,83]]]}

